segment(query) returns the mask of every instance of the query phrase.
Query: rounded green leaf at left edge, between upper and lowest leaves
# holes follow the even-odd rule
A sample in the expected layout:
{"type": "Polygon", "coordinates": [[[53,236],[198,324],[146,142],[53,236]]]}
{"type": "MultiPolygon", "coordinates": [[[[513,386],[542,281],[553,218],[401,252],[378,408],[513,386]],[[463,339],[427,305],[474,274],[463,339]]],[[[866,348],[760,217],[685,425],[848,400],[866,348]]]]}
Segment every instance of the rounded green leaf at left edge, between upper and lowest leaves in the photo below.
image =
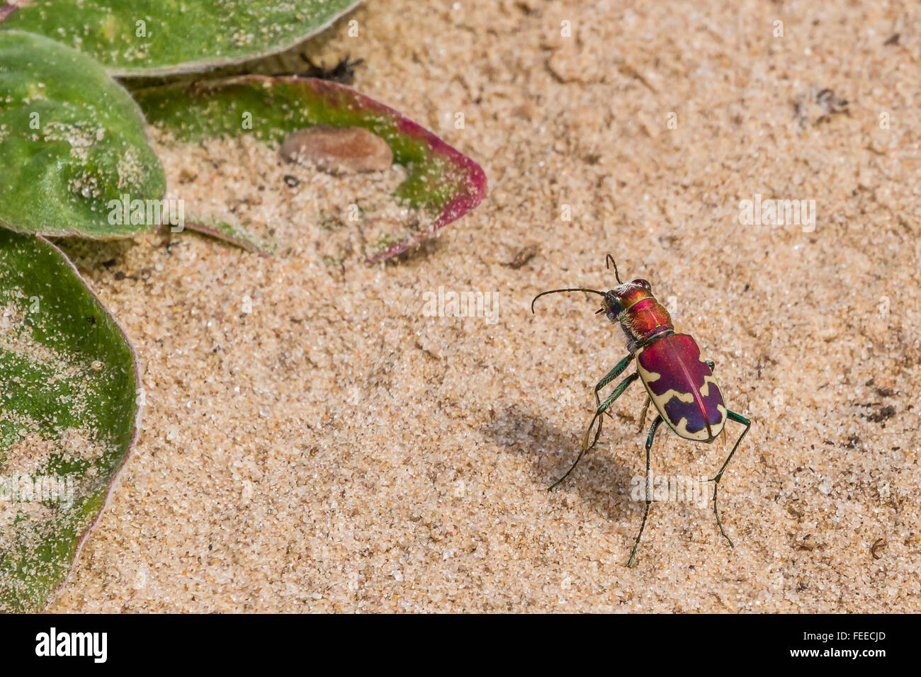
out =
{"type": "Polygon", "coordinates": [[[0,226],[42,235],[152,230],[147,209],[132,224],[110,201],[166,192],[128,93],[89,57],[13,30],[0,30],[0,177],[0,226]]]}

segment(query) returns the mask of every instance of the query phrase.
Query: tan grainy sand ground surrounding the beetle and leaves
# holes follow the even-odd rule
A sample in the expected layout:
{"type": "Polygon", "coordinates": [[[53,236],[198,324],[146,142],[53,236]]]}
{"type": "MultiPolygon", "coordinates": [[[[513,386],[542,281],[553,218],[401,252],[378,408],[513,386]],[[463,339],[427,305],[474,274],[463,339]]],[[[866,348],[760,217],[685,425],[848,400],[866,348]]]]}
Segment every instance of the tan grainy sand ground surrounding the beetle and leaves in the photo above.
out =
{"type": "MultiPolygon", "coordinates": [[[[147,404],[50,611],[919,611],[921,16],[840,5],[395,0],[304,45],[366,59],[356,88],[490,193],[396,264],[324,264],[293,217],[272,258],[69,244],[147,404]],[[814,200],[814,228],[740,223],[756,195],[814,200]],[[596,298],[530,299],[613,286],[608,252],[754,422],[720,490],[735,548],[707,505],[661,500],[624,567],[637,387],[546,491],[625,352],[596,298]],[[495,321],[427,316],[439,286],[495,292],[495,321]]],[[[653,472],[710,477],[726,452],[660,432],[653,472]]]]}

